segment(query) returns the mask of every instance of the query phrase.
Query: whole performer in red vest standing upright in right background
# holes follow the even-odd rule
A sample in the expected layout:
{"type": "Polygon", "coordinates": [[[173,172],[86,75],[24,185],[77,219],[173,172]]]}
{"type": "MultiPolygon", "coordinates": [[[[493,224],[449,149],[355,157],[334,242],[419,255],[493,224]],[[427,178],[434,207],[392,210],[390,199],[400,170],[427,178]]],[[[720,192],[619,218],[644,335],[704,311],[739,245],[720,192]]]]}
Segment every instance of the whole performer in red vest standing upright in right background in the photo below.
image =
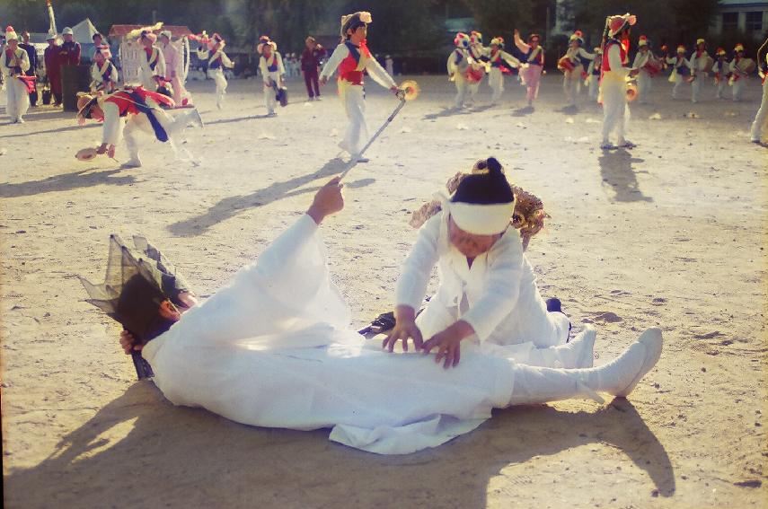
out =
{"type": "Polygon", "coordinates": [[[605,44],[603,46],[603,78],[600,92],[603,97],[603,141],[600,148],[614,149],[609,141],[616,131],[618,146],[632,148],[635,145],[624,137],[630,108],[627,106],[627,76],[637,75],[637,69],[630,69],[629,46],[631,26],[637,18],[630,13],[609,16],[605,21],[605,44]]]}

